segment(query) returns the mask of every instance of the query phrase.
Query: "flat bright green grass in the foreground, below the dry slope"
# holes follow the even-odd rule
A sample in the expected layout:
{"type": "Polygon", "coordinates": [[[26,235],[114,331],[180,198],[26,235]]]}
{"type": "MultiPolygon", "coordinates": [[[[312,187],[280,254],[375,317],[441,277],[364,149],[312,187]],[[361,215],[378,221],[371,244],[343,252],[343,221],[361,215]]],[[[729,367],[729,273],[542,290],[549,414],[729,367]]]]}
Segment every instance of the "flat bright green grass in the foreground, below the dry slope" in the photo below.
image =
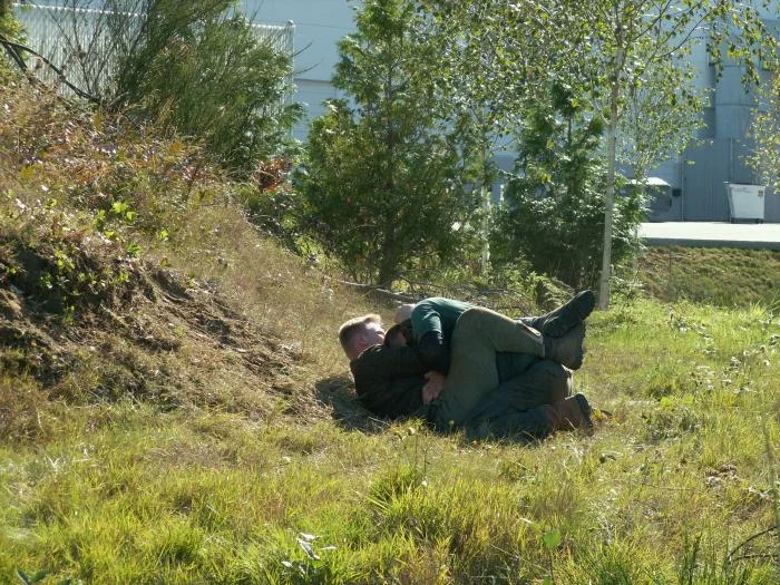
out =
{"type": "Polygon", "coordinates": [[[49,412],[0,456],[1,578],[777,583],[777,318],[636,301],[591,321],[577,389],[613,411],[593,437],[49,412]]]}

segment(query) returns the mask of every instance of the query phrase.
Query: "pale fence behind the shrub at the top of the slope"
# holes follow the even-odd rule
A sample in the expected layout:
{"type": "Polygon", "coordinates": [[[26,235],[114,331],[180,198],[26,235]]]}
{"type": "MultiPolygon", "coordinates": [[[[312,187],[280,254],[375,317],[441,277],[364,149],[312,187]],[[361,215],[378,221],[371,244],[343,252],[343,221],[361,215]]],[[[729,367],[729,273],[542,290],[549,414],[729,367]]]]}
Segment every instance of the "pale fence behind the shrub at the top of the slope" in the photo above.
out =
{"type": "MultiPolygon", "coordinates": [[[[117,47],[127,47],[144,14],[86,8],[12,4],[25,28],[26,43],[58,67],[72,85],[94,96],[105,94],[116,71],[117,47]]],[[[253,22],[255,33],[275,50],[293,57],[295,26],[253,22]]],[[[42,81],[57,85],[58,74],[40,60],[31,64],[42,81]]],[[[61,90],[72,95],[62,86],[61,90]]]]}

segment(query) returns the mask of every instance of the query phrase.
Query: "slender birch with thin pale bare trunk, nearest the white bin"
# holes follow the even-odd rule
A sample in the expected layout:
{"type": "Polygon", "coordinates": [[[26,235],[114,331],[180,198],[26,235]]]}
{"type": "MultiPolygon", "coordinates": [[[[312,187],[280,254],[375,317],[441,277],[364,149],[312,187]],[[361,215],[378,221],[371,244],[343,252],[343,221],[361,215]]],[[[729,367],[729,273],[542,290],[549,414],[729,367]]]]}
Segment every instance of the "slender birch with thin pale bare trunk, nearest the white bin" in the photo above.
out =
{"type": "MultiPolygon", "coordinates": [[[[757,57],[772,58],[774,41],[759,16],[758,6],[768,8],[776,2],[755,0],[583,0],[560,6],[575,12],[569,31],[582,42],[576,47],[587,64],[591,77],[585,79],[595,91],[592,103],[605,113],[607,175],[604,189],[604,247],[599,277],[599,308],[610,303],[610,277],[613,265],[612,246],[615,226],[615,194],[617,183],[617,136],[625,128],[627,107],[637,95],[647,90],[655,111],[666,109],[670,116],[651,115],[634,118],[641,123],[640,134],[661,133],[669,137],[692,138],[691,125],[680,127],[681,120],[692,120],[700,109],[700,96],[690,90],[692,70],[680,66],[680,58],[692,47],[706,42],[719,70],[722,59],[730,58],[744,66],[744,82],[758,80],[757,57]],[[723,53],[721,48],[725,47],[723,53]]],[[[574,47],[574,46],[573,46],[574,47]]],[[[636,104],[636,101],[634,101],[636,104]]],[[[685,140],[675,140],[684,146],[685,140]]],[[[650,146],[654,156],[663,153],[657,143],[650,146]]],[[[645,157],[646,169],[654,162],[645,157]]]]}

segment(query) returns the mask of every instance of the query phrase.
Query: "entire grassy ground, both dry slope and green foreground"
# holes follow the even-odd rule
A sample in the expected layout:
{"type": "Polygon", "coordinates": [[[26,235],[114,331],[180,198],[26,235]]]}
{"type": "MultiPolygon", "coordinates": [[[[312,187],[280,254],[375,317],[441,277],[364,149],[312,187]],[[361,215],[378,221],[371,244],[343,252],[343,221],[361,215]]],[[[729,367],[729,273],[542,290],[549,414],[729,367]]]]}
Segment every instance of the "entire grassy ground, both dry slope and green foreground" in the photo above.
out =
{"type": "Polygon", "coordinates": [[[780,581],[777,303],[618,295],[575,377],[593,436],[387,423],[335,329],[391,306],[179,143],[0,100],[0,582],[780,581]]]}

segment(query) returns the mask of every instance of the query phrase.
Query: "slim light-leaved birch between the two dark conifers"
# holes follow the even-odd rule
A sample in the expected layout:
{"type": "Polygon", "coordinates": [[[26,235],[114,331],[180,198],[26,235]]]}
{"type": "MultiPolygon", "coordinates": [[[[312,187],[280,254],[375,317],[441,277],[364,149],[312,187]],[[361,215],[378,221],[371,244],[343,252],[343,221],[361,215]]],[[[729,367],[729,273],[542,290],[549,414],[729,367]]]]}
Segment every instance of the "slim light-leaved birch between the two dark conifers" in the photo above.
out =
{"type": "MultiPolygon", "coordinates": [[[[533,95],[534,78],[545,69],[534,35],[507,35],[506,6],[491,0],[472,2],[420,2],[417,38],[435,50],[427,66],[430,107],[449,120],[469,165],[471,186],[480,193],[480,275],[488,270],[490,205],[499,177],[495,155],[511,148],[511,128],[521,105],[533,95]],[[509,49],[507,46],[510,46],[509,49]],[[524,59],[518,62],[517,55],[524,59]],[[535,58],[529,58],[534,55],[535,58]],[[475,66],[478,64],[478,66],[475,66]],[[538,70],[537,70],[538,68],[538,70]]],[[[505,3],[506,4],[506,3],[505,3]]],[[[550,47],[552,50],[552,47],[550,47]]],[[[533,99],[533,98],[532,98],[533,99]]]]}

